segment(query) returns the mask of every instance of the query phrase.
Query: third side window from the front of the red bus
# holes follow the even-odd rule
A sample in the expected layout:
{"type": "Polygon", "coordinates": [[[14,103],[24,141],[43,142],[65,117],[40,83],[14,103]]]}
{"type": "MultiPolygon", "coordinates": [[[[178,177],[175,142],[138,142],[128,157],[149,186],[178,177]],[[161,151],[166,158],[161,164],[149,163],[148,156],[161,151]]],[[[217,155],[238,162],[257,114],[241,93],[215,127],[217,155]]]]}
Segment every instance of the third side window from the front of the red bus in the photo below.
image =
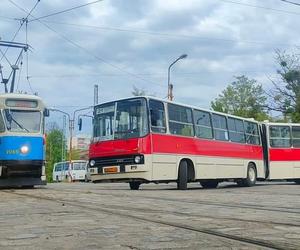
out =
{"type": "Polygon", "coordinates": [[[210,113],[194,110],[195,133],[199,138],[213,138],[210,113]]]}

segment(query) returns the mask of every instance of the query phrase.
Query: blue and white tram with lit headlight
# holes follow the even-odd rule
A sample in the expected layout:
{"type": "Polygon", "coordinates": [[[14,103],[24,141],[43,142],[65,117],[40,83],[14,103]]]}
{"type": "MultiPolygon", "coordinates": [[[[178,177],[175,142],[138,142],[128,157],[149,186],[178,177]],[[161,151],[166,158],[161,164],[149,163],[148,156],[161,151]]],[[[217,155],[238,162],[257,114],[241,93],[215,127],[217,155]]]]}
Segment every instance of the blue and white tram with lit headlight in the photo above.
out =
{"type": "Polygon", "coordinates": [[[45,116],[41,98],[0,95],[0,187],[46,184],[45,116]]]}

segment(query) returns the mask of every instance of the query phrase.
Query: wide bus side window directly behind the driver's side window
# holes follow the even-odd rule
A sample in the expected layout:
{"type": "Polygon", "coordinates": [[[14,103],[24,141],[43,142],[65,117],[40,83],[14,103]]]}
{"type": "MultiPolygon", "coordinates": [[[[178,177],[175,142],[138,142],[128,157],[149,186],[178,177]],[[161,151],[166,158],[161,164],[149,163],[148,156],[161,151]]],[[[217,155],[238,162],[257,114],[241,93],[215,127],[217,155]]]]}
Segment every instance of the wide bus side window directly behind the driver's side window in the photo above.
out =
{"type": "Polygon", "coordinates": [[[168,104],[168,111],[171,134],[194,136],[192,109],[168,104]]]}

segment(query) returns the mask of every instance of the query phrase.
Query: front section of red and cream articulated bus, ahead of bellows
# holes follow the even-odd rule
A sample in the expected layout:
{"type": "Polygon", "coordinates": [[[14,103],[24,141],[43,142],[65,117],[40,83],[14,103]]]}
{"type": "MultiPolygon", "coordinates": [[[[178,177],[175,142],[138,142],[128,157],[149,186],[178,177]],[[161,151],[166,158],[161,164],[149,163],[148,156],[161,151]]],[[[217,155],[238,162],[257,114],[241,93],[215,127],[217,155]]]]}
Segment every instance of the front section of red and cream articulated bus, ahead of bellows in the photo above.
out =
{"type": "Polygon", "coordinates": [[[91,179],[129,182],[131,189],[149,182],[186,189],[195,181],[214,188],[227,180],[252,186],[268,171],[259,128],[252,119],[153,97],[97,105],[91,179]]]}

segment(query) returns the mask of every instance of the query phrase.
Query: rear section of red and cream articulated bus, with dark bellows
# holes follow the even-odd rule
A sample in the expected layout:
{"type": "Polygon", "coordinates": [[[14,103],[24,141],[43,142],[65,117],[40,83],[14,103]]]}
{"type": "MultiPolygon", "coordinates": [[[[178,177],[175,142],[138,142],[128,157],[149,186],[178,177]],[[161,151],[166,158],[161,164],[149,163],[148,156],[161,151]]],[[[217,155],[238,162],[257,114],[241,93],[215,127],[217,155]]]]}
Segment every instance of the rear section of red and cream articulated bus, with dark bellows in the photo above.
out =
{"type": "Polygon", "coordinates": [[[300,184],[300,124],[263,123],[266,179],[300,184]]]}

